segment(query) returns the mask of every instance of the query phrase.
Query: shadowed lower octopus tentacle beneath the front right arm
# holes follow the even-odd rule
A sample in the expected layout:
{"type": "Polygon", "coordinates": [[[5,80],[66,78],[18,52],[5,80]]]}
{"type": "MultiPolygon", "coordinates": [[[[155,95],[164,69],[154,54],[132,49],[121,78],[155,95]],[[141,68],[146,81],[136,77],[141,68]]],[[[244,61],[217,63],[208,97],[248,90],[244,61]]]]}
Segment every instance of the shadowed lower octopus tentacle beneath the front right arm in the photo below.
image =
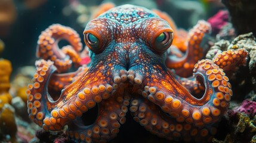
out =
{"type": "Polygon", "coordinates": [[[159,107],[146,99],[134,99],[131,101],[134,108],[134,120],[139,122],[152,134],[161,138],[174,141],[205,141],[210,142],[216,133],[216,128],[211,126],[195,126],[184,120],[172,120],[168,115],[159,110],[159,107]]]}

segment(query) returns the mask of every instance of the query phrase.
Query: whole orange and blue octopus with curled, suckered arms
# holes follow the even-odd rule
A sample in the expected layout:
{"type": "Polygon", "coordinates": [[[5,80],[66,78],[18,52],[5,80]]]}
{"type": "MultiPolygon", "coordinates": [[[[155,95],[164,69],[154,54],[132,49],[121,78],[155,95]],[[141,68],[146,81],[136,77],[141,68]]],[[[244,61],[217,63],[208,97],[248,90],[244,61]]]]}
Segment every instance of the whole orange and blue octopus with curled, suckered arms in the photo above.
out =
{"type": "Polygon", "coordinates": [[[161,138],[211,142],[233,96],[226,72],[244,64],[248,52],[229,49],[200,60],[211,26],[199,21],[183,40],[183,54],[171,45],[175,31],[168,21],[166,14],[143,7],[110,7],[85,27],[83,51],[75,30],[48,27],[39,36],[42,59],[26,91],[30,119],[48,131],[67,126],[76,142],[107,142],[129,113],[161,138]],[[70,45],[59,48],[61,39],[70,45]],[[193,76],[178,76],[189,72],[193,76]],[[88,125],[94,107],[98,114],[88,125]]]}

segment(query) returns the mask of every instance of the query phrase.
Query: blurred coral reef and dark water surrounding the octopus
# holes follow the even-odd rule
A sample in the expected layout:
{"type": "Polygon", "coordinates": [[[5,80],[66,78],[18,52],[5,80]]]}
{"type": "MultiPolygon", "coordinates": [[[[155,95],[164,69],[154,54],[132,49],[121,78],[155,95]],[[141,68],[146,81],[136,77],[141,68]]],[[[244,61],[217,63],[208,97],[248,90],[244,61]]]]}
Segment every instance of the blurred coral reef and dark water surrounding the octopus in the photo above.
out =
{"type": "MultiPolygon", "coordinates": [[[[180,47],[181,52],[173,51],[177,57],[185,55],[189,30],[199,20],[209,23],[211,33],[203,37],[200,45],[203,48],[199,51],[202,54],[198,60],[212,60],[224,51],[244,49],[248,53],[246,61],[239,64],[234,61],[235,65],[227,74],[233,90],[229,107],[217,121],[218,126],[214,128],[217,132],[204,142],[256,142],[254,0],[0,0],[0,142],[79,142],[65,134],[66,127],[60,132],[46,132],[29,119],[27,85],[33,83],[35,77],[39,35],[52,24],[68,26],[78,33],[84,48],[85,26],[103,4],[109,3],[116,6],[138,5],[169,15],[178,29],[179,36],[177,41],[174,37],[173,43],[180,47]]],[[[69,42],[61,40],[57,44],[63,47],[69,42]]],[[[72,68],[70,71],[76,70],[72,68]]],[[[175,72],[178,73],[174,68],[175,72]]],[[[179,76],[183,77],[181,74],[179,76]]],[[[196,90],[193,94],[200,94],[196,90]]],[[[202,94],[204,89],[200,92],[202,94]]],[[[93,108],[87,116],[94,112],[97,108],[93,108]]],[[[94,119],[92,116],[87,120],[93,123],[94,119]]],[[[152,135],[127,113],[126,123],[121,126],[116,138],[109,142],[184,141],[168,141],[160,135],[152,135]]]]}

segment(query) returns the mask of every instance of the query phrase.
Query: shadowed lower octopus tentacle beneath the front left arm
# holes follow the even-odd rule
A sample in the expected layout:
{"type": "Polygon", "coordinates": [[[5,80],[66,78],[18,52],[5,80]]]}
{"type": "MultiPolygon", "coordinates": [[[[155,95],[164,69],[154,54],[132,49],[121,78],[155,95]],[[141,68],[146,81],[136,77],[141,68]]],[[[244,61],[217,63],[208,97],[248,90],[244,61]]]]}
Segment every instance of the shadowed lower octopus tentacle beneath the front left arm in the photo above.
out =
{"type": "Polygon", "coordinates": [[[67,135],[85,142],[106,142],[115,138],[120,126],[125,123],[125,114],[128,111],[129,97],[123,98],[123,91],[98,103],[98,116],[92,125],[85,126],[81,118],[69,123],[67,135]]]}

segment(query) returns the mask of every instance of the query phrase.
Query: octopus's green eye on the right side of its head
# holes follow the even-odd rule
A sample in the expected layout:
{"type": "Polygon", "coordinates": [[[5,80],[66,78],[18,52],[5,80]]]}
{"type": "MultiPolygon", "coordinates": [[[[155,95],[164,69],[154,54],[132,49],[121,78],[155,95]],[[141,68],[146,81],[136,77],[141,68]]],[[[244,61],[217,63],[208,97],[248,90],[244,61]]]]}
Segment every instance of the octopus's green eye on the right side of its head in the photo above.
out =
{"type": "Polygon", "coordinates": [[[162,32],[155,39],[155,50],[158,52],[165,52],[171,46],[172,32],[162,32]]]}

